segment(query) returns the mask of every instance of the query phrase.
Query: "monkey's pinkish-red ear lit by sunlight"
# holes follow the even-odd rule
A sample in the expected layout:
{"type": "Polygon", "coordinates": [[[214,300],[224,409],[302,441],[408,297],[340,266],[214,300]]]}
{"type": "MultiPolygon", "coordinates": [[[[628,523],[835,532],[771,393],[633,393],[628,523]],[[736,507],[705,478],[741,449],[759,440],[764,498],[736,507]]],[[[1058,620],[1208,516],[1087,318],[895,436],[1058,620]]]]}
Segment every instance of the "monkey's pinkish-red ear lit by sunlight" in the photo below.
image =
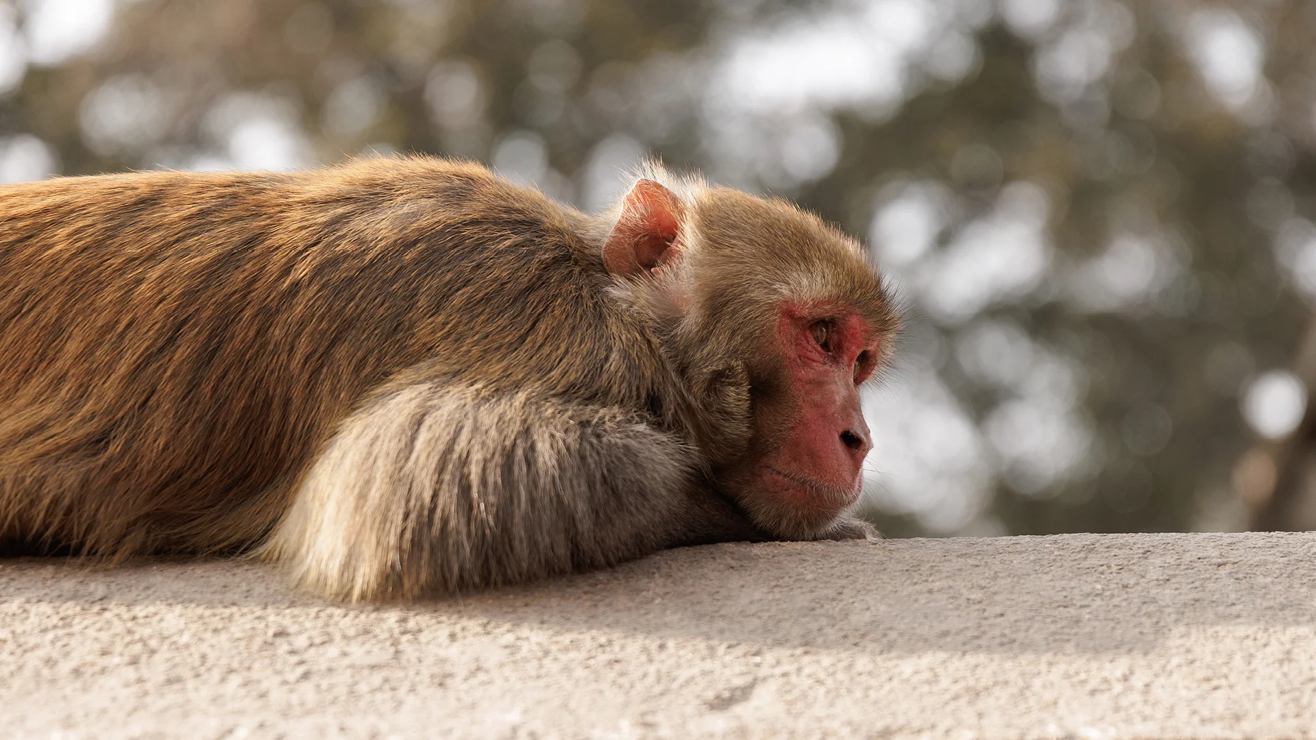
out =
{"type": "Polygon", "coordinates": [[[675,257],[680,229],[676,194],[654,180],[640,180],[621,201],[617,225],[603,244],[603,266],[619,277],[642,275],[675,257]]]}

